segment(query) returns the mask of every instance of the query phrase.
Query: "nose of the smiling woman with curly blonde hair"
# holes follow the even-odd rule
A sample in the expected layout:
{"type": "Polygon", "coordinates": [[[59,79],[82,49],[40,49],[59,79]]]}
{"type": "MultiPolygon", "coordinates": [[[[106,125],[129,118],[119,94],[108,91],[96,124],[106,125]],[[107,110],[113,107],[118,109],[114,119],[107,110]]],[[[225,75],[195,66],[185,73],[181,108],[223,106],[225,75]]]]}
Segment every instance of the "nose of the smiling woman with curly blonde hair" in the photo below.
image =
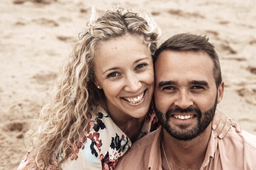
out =
{"type": "Polygon", "coordinates": [[[129,74],[126,77],[125,91],[137,92],[142,87],[142,83],[134,74],[129,74]]]}

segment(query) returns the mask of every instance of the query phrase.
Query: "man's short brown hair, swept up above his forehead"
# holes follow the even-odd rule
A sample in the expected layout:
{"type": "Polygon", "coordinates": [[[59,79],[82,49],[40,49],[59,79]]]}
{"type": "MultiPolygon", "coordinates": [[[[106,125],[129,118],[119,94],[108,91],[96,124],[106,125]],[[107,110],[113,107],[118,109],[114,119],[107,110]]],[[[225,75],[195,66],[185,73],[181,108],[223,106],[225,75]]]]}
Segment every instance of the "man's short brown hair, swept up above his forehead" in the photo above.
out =
{"type": "Polygon", "coordinates": [[[221,66],[218,58],[218,54],[216,53],[214,46],[208,41],[209,38],[206,36],[200,36],[195,34],[177,34],[163,42],[162,45],[157,49],[153,58],[154,62],[159,56],[159,54],[165,50],[171,51],[201,51],[203,53],[207,53],[209,57],[211,57],[214,68],[213,68],[213,76],[215,79],[216,87],[221,84],[221,66]]]}

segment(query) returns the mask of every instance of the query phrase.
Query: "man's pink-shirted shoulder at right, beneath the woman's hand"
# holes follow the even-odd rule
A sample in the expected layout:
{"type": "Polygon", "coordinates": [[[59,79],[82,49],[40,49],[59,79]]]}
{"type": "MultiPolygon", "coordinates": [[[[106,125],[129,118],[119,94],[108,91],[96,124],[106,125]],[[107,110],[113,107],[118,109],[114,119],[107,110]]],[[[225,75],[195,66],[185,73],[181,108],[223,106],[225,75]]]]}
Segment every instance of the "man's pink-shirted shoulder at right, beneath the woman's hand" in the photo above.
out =
{"type": "Polygon", "coordinates": [[[214,159],[220,162],[222,169],[255,169],[256,136],[243,131],[236,133],[231,127],[223,139],[218,140],[214,159]]]}

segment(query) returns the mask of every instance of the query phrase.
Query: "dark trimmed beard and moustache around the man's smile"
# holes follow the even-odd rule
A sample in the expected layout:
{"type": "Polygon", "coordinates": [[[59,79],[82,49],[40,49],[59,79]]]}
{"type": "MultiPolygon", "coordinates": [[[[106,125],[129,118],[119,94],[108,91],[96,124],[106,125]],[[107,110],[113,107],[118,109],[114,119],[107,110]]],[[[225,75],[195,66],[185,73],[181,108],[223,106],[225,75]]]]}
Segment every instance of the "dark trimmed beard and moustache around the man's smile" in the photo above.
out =
{"type": "Polygon", "coordinates": [[[157,114],[157,118],[160,122],[160,125],[162,125],[163,128],[166,129],[166,131],[175,139],[178,139],[180,141],[189,141],[194,139],[195,137],[199,136],[201,133],[203,133],[210,122],[212,122],[213,116],[215,114],[216,106],[218,102],[218,95],[216,95],[215,103],[214,105],[207,111],[204,112],[204,117],[202,118],[202,112],[197,108],[197,107],[188,107],[186,109],[182,109],[180,107],[176,108],[171,108],[169,109],[166,114],[165,114],[165,119],[164,119],[164,114],[157,109],[155,106],[155,112],[157,114]],[[169,123],[169,119],[171,118],[172,113],[196,113],[198,123],[192,127],[192,129],[186,130],[186,128],[189,125],[177,125],[179,129],[173,127],[169,123]]]}

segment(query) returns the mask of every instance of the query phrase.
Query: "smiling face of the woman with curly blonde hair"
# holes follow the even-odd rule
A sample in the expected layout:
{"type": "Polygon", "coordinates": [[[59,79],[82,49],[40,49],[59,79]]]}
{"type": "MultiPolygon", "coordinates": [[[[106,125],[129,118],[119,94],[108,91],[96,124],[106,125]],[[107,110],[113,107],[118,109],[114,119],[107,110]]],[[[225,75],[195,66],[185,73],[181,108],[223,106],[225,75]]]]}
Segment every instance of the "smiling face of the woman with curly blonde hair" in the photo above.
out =
{"type": "Polygon", "coordinates": [[[148,46],[127,34],[96,48],[95,85],[103,89],[115,116],[145,116],[154,91],[154,68],[148,46]]]}

